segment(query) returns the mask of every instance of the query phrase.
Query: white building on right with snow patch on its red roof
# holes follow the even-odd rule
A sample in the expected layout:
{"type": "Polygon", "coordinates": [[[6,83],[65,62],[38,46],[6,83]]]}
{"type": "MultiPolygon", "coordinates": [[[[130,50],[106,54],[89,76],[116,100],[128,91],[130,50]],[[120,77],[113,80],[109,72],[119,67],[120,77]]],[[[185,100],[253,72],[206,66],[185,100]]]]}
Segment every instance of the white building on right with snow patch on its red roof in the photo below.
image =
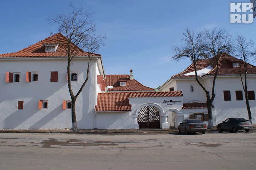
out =
{"type": "MultiPolygon", "coordinates": [[[[214,125],[224,121],[226,118],[242,117],[248,119],[245,102],[245,94],[239,70],[245,71],[245,62],[228,54],[222,53],[219,60],[219,71],[215,84],[216,97],[212,103],[214,125]]],[[[213,76],[216,70],[216,62],[213,59],[200,59],[197,64],[197,73],[203,86],[211,91],[213,76]]],[[[247,86],[249,103],[252,113],[252,121],[256,123],[256,67],[247,65],[247,86]]],[[[160,88],[160,91],[182,91],[183,107],[179,111],[184,118],[201,118],[208,120],[206,94],[195,80],[194,66],[191,64],[179,74],[173,75],[160,88]]],[[[177,112],[169,113],[168,122],[173,126],[177,112]]],[[[207,122],[206,122],[207,123],[207,122]]]]}

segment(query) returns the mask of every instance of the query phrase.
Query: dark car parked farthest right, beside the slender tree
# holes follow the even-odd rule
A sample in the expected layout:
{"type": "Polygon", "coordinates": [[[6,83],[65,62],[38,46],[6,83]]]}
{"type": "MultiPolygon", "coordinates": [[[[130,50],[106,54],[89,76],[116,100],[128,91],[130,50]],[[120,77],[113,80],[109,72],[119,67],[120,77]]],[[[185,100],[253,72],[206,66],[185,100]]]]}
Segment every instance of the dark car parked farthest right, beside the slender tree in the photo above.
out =
{"type": "Polygon", "coordinates": [[[222,130],[230,130],[230,132],[236,133],[237,130],[245,130],[246,132],[249,132],[250,129],[252,129],[251,122],[249,120],[246,120],[244,118],[228,118],[222,123],[217,125],[220,132],[222,130]]]}

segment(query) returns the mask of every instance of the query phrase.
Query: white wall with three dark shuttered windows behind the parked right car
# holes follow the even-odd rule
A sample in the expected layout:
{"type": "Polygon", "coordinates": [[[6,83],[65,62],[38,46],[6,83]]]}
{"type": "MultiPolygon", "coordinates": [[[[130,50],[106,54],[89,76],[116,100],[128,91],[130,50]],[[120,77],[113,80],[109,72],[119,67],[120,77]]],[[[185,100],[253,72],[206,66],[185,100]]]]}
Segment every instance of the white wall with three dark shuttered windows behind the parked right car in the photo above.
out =
{"type": "MultiPolygon", "coordinates": [[[[237,101],[235,90],[242,90],[242,83],[239,77],[222,78],[218,77],[215,85],[216,97],[214,105],[216,110],[217,124],[226,118],[242,117],[248,119],[248,112],[245,103],[245,94],[243,92],[243,100],[237,101]],[[224,101],[224,90],[230,90],[231,101],[224,101]]],[[[248,77],[248,90],[254,90],[256,93],[256,78],[248,77]]],[[[256,123],[256,101],[249,100],[252,121],[256,123]]]]}

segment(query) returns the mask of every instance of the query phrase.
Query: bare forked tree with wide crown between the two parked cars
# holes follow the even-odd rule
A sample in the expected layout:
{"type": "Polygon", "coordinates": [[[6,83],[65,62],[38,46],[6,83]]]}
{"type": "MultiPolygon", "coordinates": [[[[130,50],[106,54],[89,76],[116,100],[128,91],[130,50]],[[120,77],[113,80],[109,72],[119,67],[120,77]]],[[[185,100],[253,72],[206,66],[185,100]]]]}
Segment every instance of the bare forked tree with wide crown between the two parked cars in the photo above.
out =
{"type": "MultiPolygon", "coordinates": [[[[195,80],[199,86],[205,91],[207,98],[207,111],[208,111],[208,128],[213,127],[213,114],[212,114],[212,103],[215,98],[215,82],[219,70],[219,57],[221,53],[231,53],[233,50],[232,37],[227,34],[224,29],[217,30],[216,28],[210,30],[205,29],[204,32],[199,32],[195,35],[194,31],[185,29],[183,38],[181,41],[184,43],[182,47],[174,46],[174,60],[179,60],[184,57],[190,58],[193,63],[195,70],[195,80]],[[199,76],[197,75],[197,61],[198,59],[214,59],[216,63],[215,74],[213,77],[213,83],[211,87],[211,94],[206,87],[200,82],[199,76]]],[[[211,59],[211,60],[212,60],[211,59]]],[[[210,62],[210,61],[209,61],[210,62]]]]}

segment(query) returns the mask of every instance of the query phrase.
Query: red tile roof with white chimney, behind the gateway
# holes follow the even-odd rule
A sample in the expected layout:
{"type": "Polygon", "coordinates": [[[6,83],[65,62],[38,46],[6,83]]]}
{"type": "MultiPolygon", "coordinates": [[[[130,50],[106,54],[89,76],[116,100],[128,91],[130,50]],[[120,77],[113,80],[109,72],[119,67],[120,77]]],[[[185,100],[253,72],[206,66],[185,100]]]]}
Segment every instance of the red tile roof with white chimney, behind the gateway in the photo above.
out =
{"type": "Polygon", "coordinates": [[[109,91],[155,91],[153,88],[143,86],[137,80],[130,80],[130,76],[127,74],[122,75],[106,75],[103,80],[106,86],[113,86],[109,88],[109,91]],[[126,86],[120,86],[119,82],[126,82],[126,86]]]}

